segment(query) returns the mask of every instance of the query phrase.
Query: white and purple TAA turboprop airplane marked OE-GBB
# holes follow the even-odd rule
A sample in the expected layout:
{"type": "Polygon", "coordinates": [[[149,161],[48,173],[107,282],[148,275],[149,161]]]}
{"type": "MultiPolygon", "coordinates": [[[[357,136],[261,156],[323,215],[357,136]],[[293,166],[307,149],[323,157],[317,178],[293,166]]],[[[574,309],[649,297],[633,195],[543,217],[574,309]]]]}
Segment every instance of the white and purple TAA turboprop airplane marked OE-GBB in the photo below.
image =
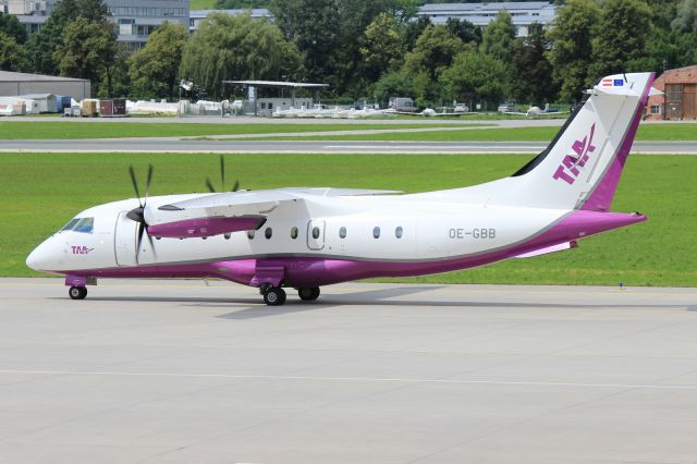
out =
{"type": "Polygon", "coordinates": [[[545,151],[511,176],[465,188],[149,197],[150,167],[142,202],[132,170],[137,198],[82,211],[26,262],[64,274],[75,300],[98,278],[220,278],[282,305],[288,288],[311,301],[338,282],[574,248],[586,236],[646,220],[609,209],[652,82],[652,73],[601,80],[545,151]]]}

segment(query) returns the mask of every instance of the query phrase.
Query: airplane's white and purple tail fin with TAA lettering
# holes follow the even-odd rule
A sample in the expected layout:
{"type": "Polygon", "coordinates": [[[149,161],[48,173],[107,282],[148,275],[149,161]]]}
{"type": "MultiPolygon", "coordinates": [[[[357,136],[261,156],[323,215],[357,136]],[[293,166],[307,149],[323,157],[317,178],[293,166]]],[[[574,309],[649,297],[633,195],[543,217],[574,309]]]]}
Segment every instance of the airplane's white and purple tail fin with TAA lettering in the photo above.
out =
{"type": "Polygon", "coordinates": [[[652,83],[653,73],[600,80],[548,148],[509,178],[509,200],[549,208],[610,209],[652,83]]]}

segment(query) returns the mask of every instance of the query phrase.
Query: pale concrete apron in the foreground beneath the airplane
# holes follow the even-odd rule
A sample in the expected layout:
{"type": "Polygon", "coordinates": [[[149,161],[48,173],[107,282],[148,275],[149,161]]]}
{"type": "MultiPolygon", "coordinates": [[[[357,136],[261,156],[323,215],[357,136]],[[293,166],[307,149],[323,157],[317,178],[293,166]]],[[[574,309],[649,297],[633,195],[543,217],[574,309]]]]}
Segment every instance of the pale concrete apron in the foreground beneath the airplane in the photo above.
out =
{"type": "Polygon", "coordinates": [[[697,290],[0,279],[0,461],[692,462],[697,290]]]}

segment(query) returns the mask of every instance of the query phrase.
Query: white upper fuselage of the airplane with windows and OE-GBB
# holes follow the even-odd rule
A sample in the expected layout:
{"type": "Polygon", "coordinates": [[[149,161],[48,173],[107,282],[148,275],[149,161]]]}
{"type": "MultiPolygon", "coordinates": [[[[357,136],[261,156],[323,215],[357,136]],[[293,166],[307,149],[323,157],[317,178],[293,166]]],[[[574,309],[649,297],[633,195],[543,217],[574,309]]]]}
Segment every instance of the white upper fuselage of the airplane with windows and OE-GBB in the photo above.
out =
{"type": "MultiPolygon", "coordinates": [[[[198,196],[151,197],[148,204],[198,196]]],[[[318,197],[281,204],[254,234],[154,239],[152,246],[143,240],[136,264],[137,223],[125,215],[137,206],[130,199],[81,212],[94,218],[93,231],[56,233],[37,248],[34,262],[65,272],[270,257],[432,261],[513,246],[568,212],[444,203],[432,194],[318,197]]]]}

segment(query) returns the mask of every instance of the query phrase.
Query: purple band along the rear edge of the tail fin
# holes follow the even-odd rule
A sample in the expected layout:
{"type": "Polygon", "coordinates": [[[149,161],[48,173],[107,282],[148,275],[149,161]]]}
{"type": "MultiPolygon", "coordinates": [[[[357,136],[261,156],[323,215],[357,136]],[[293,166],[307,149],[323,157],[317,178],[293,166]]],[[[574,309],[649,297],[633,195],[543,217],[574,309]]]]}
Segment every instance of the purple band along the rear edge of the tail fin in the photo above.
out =
{"type": "Polygon", "coordinates": [[[655,74],[651,73],[648,84],[644,89],[644,93],[641,94],[641,99],[639,100],[639,105],[636,109],[636,112],[634,113],[632,124],[629,125],[629,129],[624,136],[624,141],[622,141],[622,146],[617,150],[617,154],[612,160],[612,163],[606,172],[606,175],[602,178],[596,190],[592,192],[590,197],[588,197],[580,209],[589,211],[607,211],[610,209],[612,198],[614,197],[614,193],[617,190],[617,184],[620,183],[620,178],[622,176],[624,163],[629,156],[629,150],[632,149],[632,144],[634,143],[634,137],[636,136],[636,131],[639,126],[639,122],[641,121],[641,114],[649,98],[649,91],[651,90],[651,86],[653,85],[653,75],[655,74]]]}

